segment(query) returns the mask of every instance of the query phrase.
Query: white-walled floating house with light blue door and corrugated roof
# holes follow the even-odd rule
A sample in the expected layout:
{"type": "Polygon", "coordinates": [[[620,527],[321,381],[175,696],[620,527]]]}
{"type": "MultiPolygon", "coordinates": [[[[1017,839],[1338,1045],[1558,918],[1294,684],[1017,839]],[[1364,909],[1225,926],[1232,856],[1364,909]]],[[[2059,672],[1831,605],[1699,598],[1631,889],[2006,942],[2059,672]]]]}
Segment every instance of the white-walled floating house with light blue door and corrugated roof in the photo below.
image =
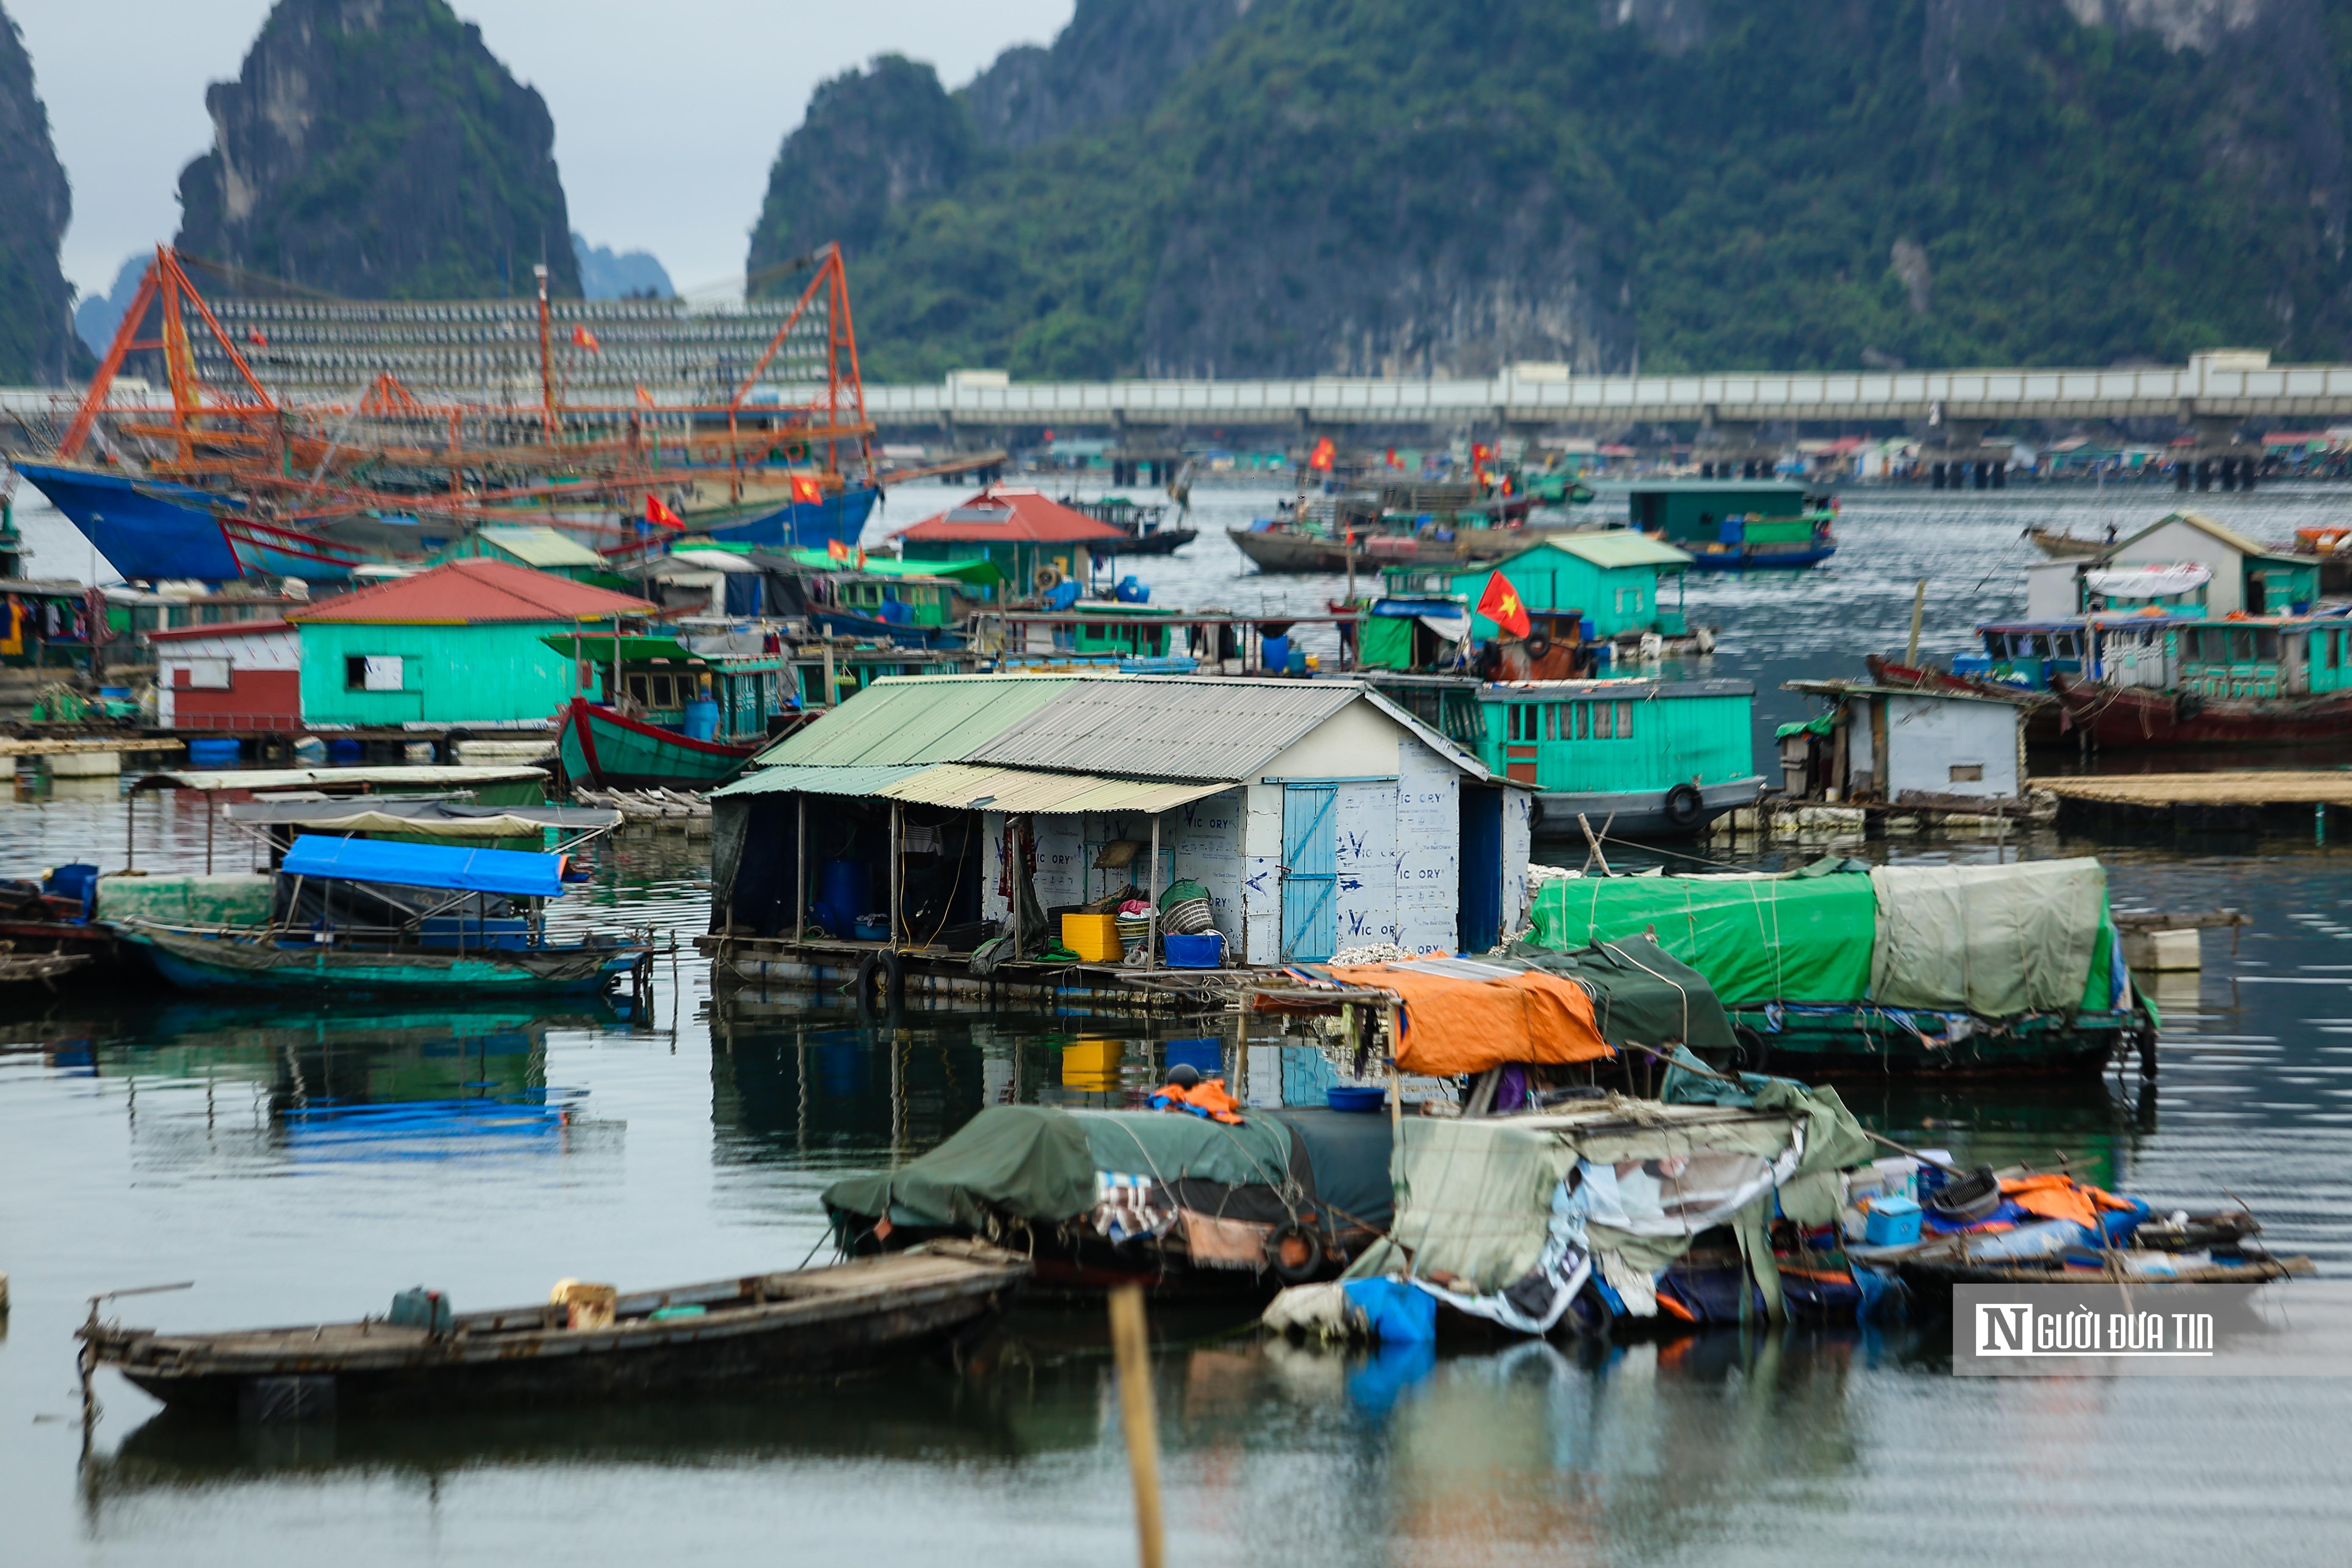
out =
{"type": "Polygon", "coordinates": [[[1197,882],[1254,966],[1482,952],[1526,910],[1526,790],[1357,682],[884,679],[713,806],[715,952],[762,978],[856,966],[811,929],[870,914],[870,947],[962,976],[1025,896],[1051,931],[1129,882],[1197,882]]]}

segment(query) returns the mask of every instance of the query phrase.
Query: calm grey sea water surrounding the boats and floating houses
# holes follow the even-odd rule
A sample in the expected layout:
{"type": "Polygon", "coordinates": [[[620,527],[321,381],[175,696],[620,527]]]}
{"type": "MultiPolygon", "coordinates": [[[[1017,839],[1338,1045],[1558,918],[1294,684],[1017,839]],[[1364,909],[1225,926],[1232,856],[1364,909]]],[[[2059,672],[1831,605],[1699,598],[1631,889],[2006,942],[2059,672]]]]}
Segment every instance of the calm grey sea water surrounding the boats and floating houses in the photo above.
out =
{"type": "MultiPolygon", "coordinates": [[[[946,494],[946,491],[941,491],[946,494]]],[[[929,489],[894,498],[920,517],[929,489]]],[[[1202,491],[1209,534],[1143,564],[1160,602],[1303,611],[1336,581],[1247,576],[1216,529],[1270,496],[1202,491]]],[[[1837,562],[1693,583],[1724,628],[1705,668],[1778,682],[1926,646],[2018,607],[2027,522],[2091,531],[2169,494],[1851,496],[1837,562]]],[[[2209,496],[2265,538],[2352,496],[2209,496]]],[[[31,517],[40,571],[75,545],[31,517]]],[[[2347,755],[2352,759],[2352,755],[2347,755]]],[[[122,858],[108,788],[0,799],[0,872],[122,858]]],[[[139,863],[195,867],[193,802],[141,809],[139,863]]],[[[1896,844],[1903,858],[1990,849],[1896,844]]],[[[2011,846],[2011,853],[2018,853],[2011,846]]],[[[2237,905],[2201,978],[2166,985],[2164,1072],[2086,1084],[1846,1084],[1882,1131],[1962,1159],[2065,1152],[2161,1206],[2230,1190],[2288,1251],[2352,1272],[2352,851],[2307,837],[2100,846],[2126,907],[2237,905]]],[[[708,858],[682,837],[595,851],[572,919],[694,933],[708,858]]],[[[172,994],[0,1001],[0,1561],[515,1563],[783,1559],[1105,1563],[1131,1556],[1117,1401],[1091,1314],[1028,1314],[962,1371],[762,1401],[517,1420],[240,1432],[101,1380],[82,1460],[71,1328],[242,1326],[461,1307],[560,1276],[668,1284],[790,1267],[818,1190],[920,1152],[981,1105],[1120,1098],[1160,1044],[1216,1023],[915,1013],[896,1030],[659,973],[652,1018],[172,994]],[[1080,1044],[1080,1051],[1070,1051],[1080,1044]],[[553,1112],[562,1112],[555,1117],[553,1112]]],[[[1162,1319],[1155,1363],[1176,1563],[2340,1561],[2352,1387],[1955,1380],[1905,1335],[1719,1335],[1435,1366],[1336,1356],[1162,1319]]]]}

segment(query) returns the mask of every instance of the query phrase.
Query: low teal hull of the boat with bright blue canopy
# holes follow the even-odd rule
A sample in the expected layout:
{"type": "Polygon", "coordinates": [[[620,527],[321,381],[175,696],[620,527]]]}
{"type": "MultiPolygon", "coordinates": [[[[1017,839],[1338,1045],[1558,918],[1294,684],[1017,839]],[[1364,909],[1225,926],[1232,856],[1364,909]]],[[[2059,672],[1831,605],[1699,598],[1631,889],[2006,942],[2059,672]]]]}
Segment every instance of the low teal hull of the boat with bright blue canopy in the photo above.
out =
{"type": "Polygon", "coordinates": [[[122,940],[181,990],[261,992],[600,992],[642,947],[456,952],[280,945],[259,933],[202,933],[125,922],[122,940]]]}

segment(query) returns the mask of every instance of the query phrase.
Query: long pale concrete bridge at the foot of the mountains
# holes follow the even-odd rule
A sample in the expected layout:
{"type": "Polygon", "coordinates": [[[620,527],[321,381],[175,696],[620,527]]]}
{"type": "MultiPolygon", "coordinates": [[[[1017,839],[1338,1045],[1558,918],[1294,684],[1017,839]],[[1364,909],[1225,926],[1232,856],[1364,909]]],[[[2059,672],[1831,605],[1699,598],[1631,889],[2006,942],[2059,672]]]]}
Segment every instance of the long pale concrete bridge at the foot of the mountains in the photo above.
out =
{"type": "Polygon", "coordinates": [[[1317,430],[1350,425],[1630,428],[1698,425],[1726,442],[1764,425],[1905,423],[1973,447],[2011,421],[2178,421],[2204,444],[2263,421],[2352,418],[2352,364],[2270,364],[2216,350],[2159,369],[1955,369],[1700,376],[1583,376],[1515,364],[1484,378],[1011,381],[950,371],[929,386],[868,386],[884,428],[1317,430]]]}

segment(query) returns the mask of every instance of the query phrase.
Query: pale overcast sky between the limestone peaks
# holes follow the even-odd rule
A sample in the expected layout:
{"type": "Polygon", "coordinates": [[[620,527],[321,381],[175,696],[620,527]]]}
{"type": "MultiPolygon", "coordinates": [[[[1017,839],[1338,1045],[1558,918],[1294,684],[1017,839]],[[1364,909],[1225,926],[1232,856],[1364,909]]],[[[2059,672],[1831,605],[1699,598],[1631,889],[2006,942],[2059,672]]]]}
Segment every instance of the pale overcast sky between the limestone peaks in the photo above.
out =
{"type": "MultiPolygon", "coordinates": [[[[649,249],[680,289],[743,273],[776,143],[809,89],[884,49],[957,87],[1073,0],[452,0],[555,115],[572,228],[649,249]]],[[[73,179],[66,277],[103,292],[179,228],[179,172],[212,146],[205,85],[230,80],[270,0],[0,0],[33,56],[73,179]]]]}

